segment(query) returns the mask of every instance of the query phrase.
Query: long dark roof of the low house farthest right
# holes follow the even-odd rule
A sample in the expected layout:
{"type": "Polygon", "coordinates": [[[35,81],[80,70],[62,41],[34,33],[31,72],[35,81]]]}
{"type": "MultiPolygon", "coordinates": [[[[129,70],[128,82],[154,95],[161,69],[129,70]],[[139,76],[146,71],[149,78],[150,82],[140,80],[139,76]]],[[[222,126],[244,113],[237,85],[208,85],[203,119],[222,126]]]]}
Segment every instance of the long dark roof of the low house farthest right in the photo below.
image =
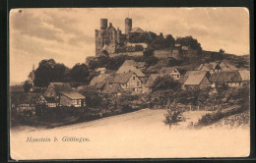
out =
{"type": "Polygon", "coordinates": [[[242,81],[242,78],[238,71],[231,72],[216,72],[212,74],[209,79],[212,82],[235,82],[242,81]]]}

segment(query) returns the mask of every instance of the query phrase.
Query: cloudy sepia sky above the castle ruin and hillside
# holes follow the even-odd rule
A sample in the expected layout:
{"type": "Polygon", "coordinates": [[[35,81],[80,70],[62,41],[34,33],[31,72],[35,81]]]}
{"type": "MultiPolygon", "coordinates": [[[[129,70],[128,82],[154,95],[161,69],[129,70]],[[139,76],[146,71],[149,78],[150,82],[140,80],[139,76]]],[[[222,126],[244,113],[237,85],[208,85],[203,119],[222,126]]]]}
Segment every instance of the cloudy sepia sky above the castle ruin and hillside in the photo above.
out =
{"type": "Polygon", "coordinates": [[[124,20],[146,31],[192,35],[204,50],[249,54],[246,8],[59,8],[14,9],[10,14],[10,84],[28,79],[32,65],[54,59],[72,68],[95,55],[99,20],[124,32],[124,20]]]}

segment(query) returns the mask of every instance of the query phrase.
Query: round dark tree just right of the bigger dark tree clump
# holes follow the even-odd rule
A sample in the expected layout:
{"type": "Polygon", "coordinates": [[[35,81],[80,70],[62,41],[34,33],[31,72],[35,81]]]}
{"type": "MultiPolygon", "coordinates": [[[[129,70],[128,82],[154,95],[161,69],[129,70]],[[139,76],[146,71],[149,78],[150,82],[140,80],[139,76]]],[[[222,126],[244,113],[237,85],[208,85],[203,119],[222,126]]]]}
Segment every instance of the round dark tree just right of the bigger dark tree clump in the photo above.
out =
{"type": "Polygon", "coordinates": [[[89,77],[89,69],[86,64],[76,64],[70,70],[70,76],[73,80],[78,82],[86,82],[88,81],[89,77]]]}

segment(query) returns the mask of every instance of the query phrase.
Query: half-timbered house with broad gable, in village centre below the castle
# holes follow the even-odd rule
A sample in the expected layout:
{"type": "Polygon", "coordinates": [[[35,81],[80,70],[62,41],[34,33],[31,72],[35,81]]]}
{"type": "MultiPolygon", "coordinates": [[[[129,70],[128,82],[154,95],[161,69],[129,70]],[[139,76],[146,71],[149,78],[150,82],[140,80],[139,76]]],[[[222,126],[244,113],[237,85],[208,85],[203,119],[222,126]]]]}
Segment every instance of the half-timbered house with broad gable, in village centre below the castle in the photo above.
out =
{"type": "Polygon", "coordinates": [[[143,82],[133,72],[117,74],[111,83],[118,83],[124,90],[133,93],[142,93],[143,82]]]}

